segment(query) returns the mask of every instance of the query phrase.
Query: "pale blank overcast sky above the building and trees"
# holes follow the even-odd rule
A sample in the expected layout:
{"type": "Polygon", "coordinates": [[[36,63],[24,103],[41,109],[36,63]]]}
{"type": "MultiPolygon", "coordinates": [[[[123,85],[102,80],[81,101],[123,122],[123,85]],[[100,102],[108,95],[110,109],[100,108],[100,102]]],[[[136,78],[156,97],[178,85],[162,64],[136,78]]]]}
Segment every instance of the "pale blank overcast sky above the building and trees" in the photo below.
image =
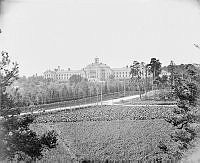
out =
{"type": "Polygon", "coordinates": [[[96,56],[111,68],[152,57],[200,63],[200,7],[192,1],[7,0],[0,50],[28,76],[81,69],[96,56]]]}

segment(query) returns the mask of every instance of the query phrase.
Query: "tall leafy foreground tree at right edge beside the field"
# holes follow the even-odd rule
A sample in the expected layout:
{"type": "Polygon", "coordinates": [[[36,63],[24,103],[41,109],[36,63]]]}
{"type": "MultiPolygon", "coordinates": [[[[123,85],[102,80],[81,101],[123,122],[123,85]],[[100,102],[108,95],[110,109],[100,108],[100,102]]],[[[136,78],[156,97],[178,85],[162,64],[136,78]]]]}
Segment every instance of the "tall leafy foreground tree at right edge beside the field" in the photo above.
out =
{"type": "MultiPolygon", "coordinates": [[[[190,71],[192,70],[190,69],[190,71]]],[[[194,77],[194,74],[191,73],[192,77],[194,77]]],[[[193,124],[197,123],[197,98],[199,91],[197,82],[191,81],[190,77],[187,80],[177,78],[174,82],[173,90],[174,95],[178,99],[178,108],[173,110],[174,115],[172,117],[167,117],[165,120],[174,129],[170,135],[174,142],[174,148],[167,147],[162,142],[158,147],[162,152],[168,154],[169,157],[180,159],[183,156],[183,152],[191,147],[197,135],[193,124]],[[163,148],[163,146],[166,148],[163,148]]]]}

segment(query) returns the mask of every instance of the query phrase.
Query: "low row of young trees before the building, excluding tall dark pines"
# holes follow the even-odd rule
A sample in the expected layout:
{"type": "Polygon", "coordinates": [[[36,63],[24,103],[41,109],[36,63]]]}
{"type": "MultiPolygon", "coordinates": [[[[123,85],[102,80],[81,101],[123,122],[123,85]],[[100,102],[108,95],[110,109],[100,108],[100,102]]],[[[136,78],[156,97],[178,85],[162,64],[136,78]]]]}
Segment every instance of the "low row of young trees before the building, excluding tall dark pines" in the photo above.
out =
{"type": "MultiPolygon", "coordinates": [[[[144,83],[144,80],[142,81],[144,83]]],[[[89,82],[79,75],[73,75],[69,82],[60,82],[44,79],[40,76],[21,77],[7,88],[19,106],[49,104],[61,101],[77,100],[122,92],[137,92],[137,82],[130,79],[89,82]]],[[[150,83],[149,83],[150,85],[150,83]]],[[[142,89],[144,91],[144,89],[142,89]]]]}

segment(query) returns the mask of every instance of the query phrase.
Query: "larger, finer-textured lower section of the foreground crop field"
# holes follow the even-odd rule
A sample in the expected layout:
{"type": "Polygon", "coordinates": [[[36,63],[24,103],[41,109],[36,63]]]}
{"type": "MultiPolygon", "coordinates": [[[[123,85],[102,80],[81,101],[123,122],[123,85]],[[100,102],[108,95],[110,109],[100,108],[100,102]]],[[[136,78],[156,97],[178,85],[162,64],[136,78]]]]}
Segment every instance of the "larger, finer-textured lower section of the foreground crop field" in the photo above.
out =
{"type": "MultiPolygon", "coordinates": [[[[50,124],[39,124],[47,126],[50,124]]],[[[113,120],[51,124],[79,159],[141,160],[156,157],[159,141],[170,144],[164,120],[113,120]]]]}

